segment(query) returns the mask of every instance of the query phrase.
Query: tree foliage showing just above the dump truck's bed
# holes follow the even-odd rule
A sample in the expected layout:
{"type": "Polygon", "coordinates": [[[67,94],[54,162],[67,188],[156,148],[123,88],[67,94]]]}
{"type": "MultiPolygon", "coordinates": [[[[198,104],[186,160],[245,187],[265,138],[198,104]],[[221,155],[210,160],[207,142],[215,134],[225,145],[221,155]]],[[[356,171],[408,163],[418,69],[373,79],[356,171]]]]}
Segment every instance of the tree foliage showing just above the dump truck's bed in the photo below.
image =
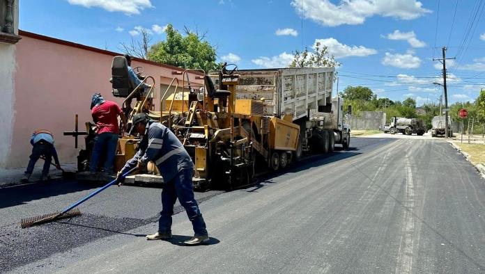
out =
{"type": "Polygon", "coordinates": [[[293,51],[293,61],[289,67],[339,67],[340,65],[335,61],[334,56],[330,55],[327,46],[316,42],[314,52],[309,52],[306,47],[304,51],[293,51]]]}

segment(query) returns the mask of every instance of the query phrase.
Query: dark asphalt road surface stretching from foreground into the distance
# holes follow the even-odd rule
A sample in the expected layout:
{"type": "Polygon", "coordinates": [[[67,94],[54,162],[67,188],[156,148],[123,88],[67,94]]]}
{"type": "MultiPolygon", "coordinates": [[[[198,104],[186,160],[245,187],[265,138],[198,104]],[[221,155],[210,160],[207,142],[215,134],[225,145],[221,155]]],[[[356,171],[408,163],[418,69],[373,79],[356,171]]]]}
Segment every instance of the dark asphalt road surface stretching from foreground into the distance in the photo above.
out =
{"type": "MultiPolygon", "coordinates": [[[[196,193],[211,241],[155,232],[160,188],[113,186],[83,215],[20,229],[98,186],[0,188],[0,271],[15,273],[484,273],[485,184],[443,140],[353,138],[254,186],[196,193]]],[[[416,136],[417,137],[417,136],[416,136]]]]}

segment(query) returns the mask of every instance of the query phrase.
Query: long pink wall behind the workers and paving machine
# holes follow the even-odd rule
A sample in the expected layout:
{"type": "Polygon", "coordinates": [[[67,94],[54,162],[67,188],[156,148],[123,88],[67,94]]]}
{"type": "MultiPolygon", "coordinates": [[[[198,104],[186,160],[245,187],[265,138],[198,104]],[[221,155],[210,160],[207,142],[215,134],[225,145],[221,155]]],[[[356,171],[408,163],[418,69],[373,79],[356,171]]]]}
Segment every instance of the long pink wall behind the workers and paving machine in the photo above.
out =
{"type": "MultiPolygon", "coordinates": [[[[118,104],[123,102],[122,98],[111,94],[109,79],[113,53],[30,36],[22,35],[17,43],[15,120],[7,167],[26,166],[31,153],[31,133],[39,128],[53,131],[61,163],[75,163],[78,151],[84,148],[84,138],[80,136],[75,150],[74,138],[63,136],[63,131],[74,129],[75,114],[79,114],[79,130],[84,131],[84,122],[92,120],[89,106],[94,92],[101,92],[105,99],[118,104]]],[[[144,74],[155,78],[155,99],[159,97],[160,81],[169,81],[175,70],[175,67],[139,61],[133,61],[132,66],[143,66],[144,74]]]]}

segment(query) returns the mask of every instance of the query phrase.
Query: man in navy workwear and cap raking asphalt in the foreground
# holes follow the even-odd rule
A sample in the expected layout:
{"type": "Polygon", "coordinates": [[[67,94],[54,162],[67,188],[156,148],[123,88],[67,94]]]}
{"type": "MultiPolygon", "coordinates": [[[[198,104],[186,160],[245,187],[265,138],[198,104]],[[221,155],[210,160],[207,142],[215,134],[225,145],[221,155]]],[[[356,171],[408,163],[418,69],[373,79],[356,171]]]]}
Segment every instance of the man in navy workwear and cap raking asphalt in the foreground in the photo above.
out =
{"type": "Polygon", "coordinates": [[[192,172],[194,163],[180,140],[160,122],[151,121],[148,115],[139,113],[132,120],[134,130],[141,136],[140,149],[118,172],[118,182],[123,174],[135,166],[144,169],[148,161],[153,161],[160,170],[164,180],[162,190],[162,211],[158,220],[158,232],[147,235],[148,240],[167,240],[171,238],[171,216],[178,198],[185,208],[194,227],[194,236],[185,241],[187,245],[197,245],[209,241],[206,223],[202,218],[199,205],[192,190],[192,172]]]}

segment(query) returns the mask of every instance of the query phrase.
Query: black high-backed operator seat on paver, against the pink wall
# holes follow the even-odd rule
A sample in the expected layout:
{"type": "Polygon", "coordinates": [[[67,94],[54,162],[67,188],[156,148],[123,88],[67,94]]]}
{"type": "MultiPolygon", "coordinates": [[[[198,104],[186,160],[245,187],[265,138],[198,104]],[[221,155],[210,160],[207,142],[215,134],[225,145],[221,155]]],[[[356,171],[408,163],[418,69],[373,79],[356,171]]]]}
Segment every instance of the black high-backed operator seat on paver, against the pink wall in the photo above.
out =
{"type": "Polygon", "coordinates": [[[128,63],[123,56],[114,56],[111,63],[111,83],[114,97],[128,97],[137,86],[128,74],[128,63]]]}

